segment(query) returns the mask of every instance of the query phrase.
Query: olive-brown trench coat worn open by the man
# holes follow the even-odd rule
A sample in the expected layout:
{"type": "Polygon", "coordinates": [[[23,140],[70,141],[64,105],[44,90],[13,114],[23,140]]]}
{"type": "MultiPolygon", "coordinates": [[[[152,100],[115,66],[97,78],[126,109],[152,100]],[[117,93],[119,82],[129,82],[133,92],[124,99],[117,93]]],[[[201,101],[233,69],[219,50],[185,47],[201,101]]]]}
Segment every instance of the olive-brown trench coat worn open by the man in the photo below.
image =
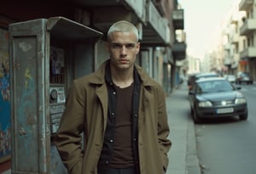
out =
{"type": "MultiPolygon", "coordinates": [[[[108,93],[104,63],[95,73],[73,81],[67,106],[55,136],[63,164],[71,174],[96,174],[107,126],[108,93]],[[81,144],[81,132],[84,132],[81,144]]],[[[165,93],[143,69],[138,113],[138,153],[140,174],[161,174],[168,165],[169,126],[165,93]]]]}

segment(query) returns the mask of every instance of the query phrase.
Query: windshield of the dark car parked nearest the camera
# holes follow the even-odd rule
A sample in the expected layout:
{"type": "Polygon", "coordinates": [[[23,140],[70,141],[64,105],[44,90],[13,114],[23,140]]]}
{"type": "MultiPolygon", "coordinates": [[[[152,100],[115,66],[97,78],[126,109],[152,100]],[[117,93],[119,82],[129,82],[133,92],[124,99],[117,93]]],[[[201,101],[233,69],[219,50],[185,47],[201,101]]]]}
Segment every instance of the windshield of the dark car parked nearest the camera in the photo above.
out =
{"type": "Polygon", "coordinates": [[[229,81],[202,81],[198,84],[197,93],[217,93],[234,91],[229,81]]]}

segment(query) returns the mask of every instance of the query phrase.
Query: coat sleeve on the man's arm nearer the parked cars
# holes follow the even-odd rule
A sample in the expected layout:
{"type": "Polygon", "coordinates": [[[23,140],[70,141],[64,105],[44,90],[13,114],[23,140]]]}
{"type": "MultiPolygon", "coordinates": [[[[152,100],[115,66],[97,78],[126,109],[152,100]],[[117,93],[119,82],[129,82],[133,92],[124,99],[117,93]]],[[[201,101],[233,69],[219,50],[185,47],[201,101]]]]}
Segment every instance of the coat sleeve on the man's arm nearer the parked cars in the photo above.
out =
{"type": "Polygon", "coordinates": [[[166,112],[166,95],[164,90],[160,87],[158,98],[158,143],[160,147],[161,158],[163,161],[163,170],[166,171],[168,166],[167,153],[171,149],[172,142],[168,139],[170,128],[168,125],[166,112]]]}

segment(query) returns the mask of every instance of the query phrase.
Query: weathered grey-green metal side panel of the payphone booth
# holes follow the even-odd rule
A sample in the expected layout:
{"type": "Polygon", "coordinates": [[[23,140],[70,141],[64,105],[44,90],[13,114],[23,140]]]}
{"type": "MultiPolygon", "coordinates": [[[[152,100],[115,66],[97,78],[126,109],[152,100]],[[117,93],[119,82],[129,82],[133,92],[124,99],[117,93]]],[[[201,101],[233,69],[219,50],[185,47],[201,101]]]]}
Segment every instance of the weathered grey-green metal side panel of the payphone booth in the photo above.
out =
{"type": "Polygon", "coordinates": [[[46,21],[9,25],[13,173],[47,171],[46,21]]]}

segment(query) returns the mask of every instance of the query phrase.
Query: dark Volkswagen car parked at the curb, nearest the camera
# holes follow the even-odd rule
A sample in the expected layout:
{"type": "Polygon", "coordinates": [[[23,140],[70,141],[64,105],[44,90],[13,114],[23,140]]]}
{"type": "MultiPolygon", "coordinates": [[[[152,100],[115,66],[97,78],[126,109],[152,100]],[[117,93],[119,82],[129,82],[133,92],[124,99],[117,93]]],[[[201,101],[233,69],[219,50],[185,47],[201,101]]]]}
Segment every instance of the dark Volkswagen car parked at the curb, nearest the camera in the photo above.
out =
{"type": "Polygon", "coordinates": [[[205,78],[195,81],[189,91],[191,115],[195,123],[202,118],[229,117],[238,115],[247,120],[247,99],[223,77],[205,78]]]}

